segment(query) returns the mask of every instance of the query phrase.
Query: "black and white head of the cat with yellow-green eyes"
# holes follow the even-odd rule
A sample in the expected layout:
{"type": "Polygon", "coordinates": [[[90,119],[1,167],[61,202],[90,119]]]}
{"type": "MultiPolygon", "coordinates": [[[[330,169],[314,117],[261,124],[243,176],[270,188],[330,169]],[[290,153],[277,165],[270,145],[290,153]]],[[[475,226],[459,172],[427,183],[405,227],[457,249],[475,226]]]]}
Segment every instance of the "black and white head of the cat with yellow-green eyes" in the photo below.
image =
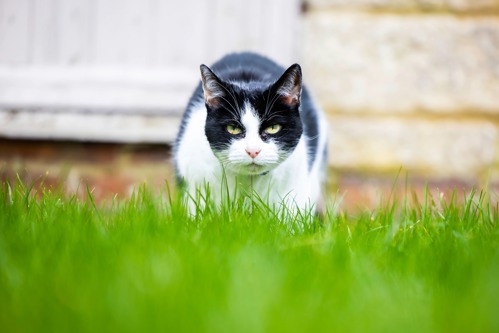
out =
{"type": "Polygon", "coordinates": [[[270,85],[251,79],[223,81],[205,65],[201,65],[201,78],[206,137],[226,170],[264,174],[293,152],[303,133],[298,64],[270,85]]]}

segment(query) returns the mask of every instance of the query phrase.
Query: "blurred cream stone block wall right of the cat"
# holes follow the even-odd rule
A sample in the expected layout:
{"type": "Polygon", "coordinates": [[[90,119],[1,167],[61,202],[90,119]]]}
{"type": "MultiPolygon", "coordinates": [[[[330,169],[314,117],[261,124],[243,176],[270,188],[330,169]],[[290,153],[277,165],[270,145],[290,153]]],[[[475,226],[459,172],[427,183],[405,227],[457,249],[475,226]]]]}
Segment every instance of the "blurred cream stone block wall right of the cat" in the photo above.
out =
{"type": "Polygon", "coordinates": [[[309,0],[305,9],[304,72],[329,116],[340,183],[402,170],[497,188],[498,0],[309,0]]]}

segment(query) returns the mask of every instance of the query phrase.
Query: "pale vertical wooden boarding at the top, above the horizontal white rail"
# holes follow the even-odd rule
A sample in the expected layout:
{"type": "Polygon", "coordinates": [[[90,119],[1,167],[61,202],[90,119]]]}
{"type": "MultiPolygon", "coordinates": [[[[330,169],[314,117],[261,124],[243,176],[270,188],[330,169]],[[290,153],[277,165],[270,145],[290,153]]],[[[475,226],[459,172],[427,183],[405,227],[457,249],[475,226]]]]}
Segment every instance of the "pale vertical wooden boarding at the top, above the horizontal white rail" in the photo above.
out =
{"type": "Polygon", "coordinates": [[[0,65],[193,66],[232,51],[288,61],[299,0],[1,0],[0,65]]]}

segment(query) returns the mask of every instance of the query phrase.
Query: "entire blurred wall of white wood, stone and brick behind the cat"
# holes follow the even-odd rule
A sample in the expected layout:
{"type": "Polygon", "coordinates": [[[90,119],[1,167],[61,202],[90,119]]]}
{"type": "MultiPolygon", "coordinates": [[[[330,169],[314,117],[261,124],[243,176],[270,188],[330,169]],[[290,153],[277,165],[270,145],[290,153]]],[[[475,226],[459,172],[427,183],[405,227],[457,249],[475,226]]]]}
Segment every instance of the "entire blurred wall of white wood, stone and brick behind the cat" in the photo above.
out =
{"type": "Polygon", "coordinates": [[[499,0],[0,0],[0,179],[98,200],[173,184],[201,63],[299,62],[328,116],[328,187],[499,192],[499,0]]]}

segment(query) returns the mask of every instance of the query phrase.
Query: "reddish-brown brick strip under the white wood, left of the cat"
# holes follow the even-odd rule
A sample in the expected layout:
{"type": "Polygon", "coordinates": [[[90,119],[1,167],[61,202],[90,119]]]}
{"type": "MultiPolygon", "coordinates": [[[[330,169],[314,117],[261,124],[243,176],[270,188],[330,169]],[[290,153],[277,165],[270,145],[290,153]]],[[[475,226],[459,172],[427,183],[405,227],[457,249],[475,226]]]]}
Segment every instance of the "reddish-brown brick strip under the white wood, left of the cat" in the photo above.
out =
{"type": "Polygon", "coordinates": [[[174,186],[169,148],[151,144],[105,144],[0,139],[0,183],[20,178],[27,186],[87,196],[98,202],[129,197],[146,183],[155,192],[174,186]]]}

